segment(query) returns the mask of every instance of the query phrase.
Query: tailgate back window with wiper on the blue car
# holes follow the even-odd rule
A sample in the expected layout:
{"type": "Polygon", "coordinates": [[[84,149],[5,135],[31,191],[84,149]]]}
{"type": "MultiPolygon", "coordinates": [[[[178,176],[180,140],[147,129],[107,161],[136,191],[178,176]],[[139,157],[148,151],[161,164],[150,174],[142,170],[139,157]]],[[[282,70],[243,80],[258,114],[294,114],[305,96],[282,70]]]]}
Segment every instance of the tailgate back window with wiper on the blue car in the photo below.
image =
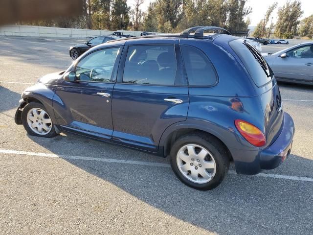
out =
{"type": "Polygon", "coordinates": [[[262,87],[271,80],[272,71],[262,55],[253,46],[243,39],[233,40],[229,46],[245,65],[255,85],[262,87]]]}

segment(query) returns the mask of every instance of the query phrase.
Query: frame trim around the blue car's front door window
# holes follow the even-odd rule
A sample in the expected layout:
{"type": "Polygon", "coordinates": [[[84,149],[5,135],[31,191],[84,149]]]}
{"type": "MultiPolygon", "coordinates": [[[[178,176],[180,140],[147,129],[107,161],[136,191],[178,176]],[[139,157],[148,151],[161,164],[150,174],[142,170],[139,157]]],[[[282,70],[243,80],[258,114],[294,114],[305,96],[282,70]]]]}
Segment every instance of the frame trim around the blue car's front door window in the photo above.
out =
{"type": "Polygon", "coordinates": [[[77,83],[107,83],[107,84],[112,84],[112,83],[115,83],[116,81],[116,76],[117,76],[117,71],[118,71],[118,67],[119,67],[119,63],[120,63],[120,58],[121,58],[121,54],[122,54],[122,51],[123,51],[123,46],[112,46],[112,47],[105,47],[105,48],[99,48],[97,50],[93,50],[93,51],[90,51],[90,53],[86,54],[83,58],[81,58],[79,61],[75,61],[75,64],[74,66],[71,68],[71,72],[75,72],[76,70],[76,66],[79,62],[81,62],[84,58],[86,58],[86,56],[94,53],[94,52],[97,52],[97,51],[100,51],[100,50],[106,50],[106,49],[112,49],[112,48],[119,48],[118,49],[118,52],[117,52],[117,55],[116,55],[116,58],[115,58],[115,62],[114,62],[114,65],[113,65],[113,70],[112,70],[112,73],[111,73],[111,79],[110,79],[110,82],[104,82],[104,81],[80,81],[80,80],[75,80],[74,82],[77,82],[77,83]]]}

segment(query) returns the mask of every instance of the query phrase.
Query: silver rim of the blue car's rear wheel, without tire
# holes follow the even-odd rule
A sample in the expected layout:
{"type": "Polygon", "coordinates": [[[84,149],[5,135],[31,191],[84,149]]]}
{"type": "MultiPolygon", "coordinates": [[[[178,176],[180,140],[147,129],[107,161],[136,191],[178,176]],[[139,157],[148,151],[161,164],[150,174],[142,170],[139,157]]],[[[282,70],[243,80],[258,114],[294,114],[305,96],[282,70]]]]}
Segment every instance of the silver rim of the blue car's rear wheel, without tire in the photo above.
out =
{"type": "Polygon", "coordinates": [[[176,160],[182,175],[194,183],[207,183],[216,173],[216,163],[212,154],[197,144],[182,146],[176,160]]]}

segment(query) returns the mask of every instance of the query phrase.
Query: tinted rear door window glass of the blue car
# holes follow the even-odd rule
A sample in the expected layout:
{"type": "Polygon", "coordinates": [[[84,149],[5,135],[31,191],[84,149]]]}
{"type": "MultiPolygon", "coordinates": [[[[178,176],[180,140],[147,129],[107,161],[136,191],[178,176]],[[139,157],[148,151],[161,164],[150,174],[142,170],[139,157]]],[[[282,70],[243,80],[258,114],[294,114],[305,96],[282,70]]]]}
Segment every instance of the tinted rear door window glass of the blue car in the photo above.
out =
{"type": "Polygon", "coordinates": [[[174,45],[130,46],[123,83],[174,85],[176,68],[174,45]]]}

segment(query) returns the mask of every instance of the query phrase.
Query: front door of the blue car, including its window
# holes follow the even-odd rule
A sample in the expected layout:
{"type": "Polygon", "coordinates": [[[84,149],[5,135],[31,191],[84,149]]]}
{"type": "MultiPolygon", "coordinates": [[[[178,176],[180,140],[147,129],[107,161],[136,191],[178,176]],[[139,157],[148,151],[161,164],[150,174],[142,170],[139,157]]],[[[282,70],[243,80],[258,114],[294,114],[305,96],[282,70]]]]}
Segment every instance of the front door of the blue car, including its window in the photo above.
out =
{"type": "Polygon", "coordinates": [[[62,129],[111,139],[112,90],[121,49],[89,53],[73,67],[75,81],[63,80],[57,86],[53,108],[62,129]]]}

